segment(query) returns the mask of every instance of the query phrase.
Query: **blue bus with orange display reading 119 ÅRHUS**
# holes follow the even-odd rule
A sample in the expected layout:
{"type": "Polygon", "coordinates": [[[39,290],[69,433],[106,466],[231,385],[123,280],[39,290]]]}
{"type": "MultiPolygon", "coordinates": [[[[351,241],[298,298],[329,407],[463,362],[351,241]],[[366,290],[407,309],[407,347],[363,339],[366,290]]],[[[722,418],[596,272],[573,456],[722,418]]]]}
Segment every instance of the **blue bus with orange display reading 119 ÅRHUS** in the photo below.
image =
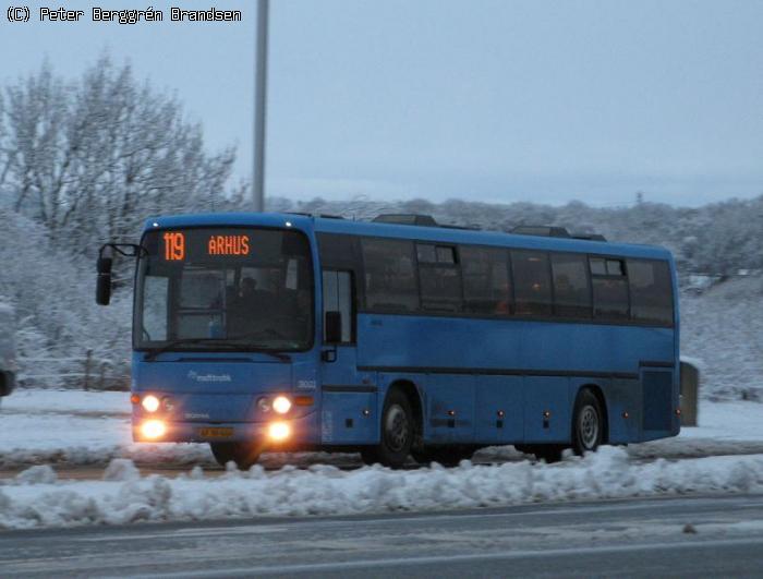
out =
{"type": "Polygon", "coordinates": [[[293,214],[149,219],[136,260],[136,442],[457,463],[557,460],[680,427],[676,269],[662,248],[293,214]]]}

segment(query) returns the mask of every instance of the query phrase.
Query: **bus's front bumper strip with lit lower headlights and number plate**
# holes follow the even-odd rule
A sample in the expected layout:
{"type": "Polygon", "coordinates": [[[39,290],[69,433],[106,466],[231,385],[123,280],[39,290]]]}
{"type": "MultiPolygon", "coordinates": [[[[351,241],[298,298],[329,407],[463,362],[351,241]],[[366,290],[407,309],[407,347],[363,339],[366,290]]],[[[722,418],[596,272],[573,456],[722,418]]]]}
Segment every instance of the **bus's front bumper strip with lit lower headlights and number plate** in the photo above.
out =
{"type": "Polygon", "coordinates": [[[319,442],[317,413],[267,422],[174,422],[161,417],[133,417],[136,443],[243,443],[261,442],[274,448],[314,445],[319,442]]]}

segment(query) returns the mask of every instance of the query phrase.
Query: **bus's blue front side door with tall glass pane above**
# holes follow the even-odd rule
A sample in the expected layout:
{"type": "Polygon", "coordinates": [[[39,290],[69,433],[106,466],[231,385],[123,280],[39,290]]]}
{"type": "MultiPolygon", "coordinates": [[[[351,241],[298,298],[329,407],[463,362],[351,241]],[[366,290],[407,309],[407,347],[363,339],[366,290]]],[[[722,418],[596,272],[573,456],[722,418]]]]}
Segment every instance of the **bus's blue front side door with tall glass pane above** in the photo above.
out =
{"type": "Polygon", "coordinates": [[[358,372],[354,275],[324,269],[322,278],[320,438],[335,445],[373,444],[378,442],[377,394],[372,375],[358,372]]]}

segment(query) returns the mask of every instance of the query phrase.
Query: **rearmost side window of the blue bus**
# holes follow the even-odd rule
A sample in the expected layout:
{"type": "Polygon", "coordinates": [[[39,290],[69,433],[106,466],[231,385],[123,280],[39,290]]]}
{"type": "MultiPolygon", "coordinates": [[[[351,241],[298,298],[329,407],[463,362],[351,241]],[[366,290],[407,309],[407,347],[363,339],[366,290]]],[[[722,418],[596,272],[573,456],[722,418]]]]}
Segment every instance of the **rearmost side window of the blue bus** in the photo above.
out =
{"type": "Polygon", "coordinates": [[[631,318],[673,325],[673,281],[667,262],[628,260],[631,318]]]}

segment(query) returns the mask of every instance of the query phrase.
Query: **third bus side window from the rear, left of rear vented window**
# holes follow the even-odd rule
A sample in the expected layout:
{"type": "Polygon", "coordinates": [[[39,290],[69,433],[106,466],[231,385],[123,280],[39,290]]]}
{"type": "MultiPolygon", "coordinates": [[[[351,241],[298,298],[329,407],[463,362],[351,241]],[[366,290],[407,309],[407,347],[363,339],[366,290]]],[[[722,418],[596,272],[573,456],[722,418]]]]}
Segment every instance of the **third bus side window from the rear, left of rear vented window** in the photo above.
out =
{"type": "Polygon", "coordinates": [[[591,317],[591,288],[585,255],[552,255],[554,314],[559,317],[591,317]]]}

